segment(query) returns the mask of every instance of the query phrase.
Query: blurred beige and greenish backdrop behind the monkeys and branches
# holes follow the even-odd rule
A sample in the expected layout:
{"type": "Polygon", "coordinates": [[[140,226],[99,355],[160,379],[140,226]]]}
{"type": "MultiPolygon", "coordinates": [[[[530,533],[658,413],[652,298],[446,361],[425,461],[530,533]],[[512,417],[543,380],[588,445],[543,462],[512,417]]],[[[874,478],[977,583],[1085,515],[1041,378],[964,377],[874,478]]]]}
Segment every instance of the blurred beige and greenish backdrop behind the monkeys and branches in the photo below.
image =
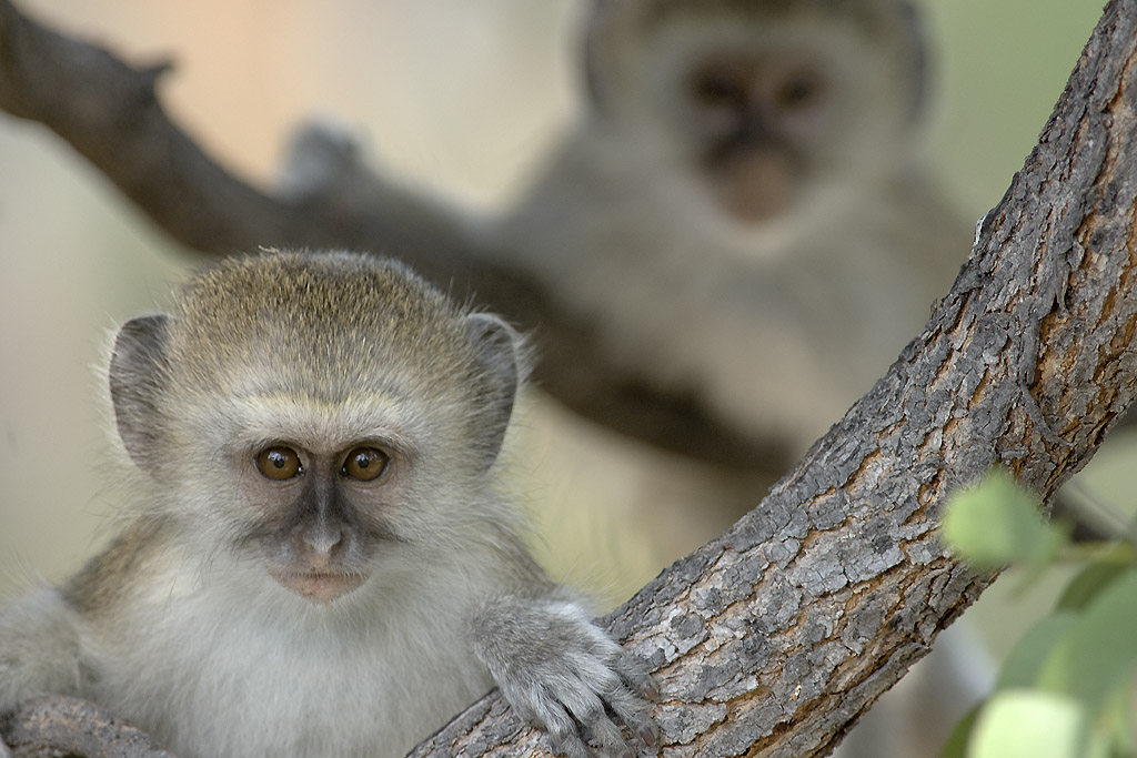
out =
{"type": "MultiPolygon", "coordinates": [[[[961,207],[978,218],[1035,144],[1099,2],[924,5],[936,52],[929,150],[961,207]]],[[[368,135],[387,169],[492,208],[517,190],[574,107],[581,0],[22,7],[132,61],[173,56],[177,68],[163,88],[169,109],[257,181],[271,180],[290,128],[321,111],[368,135]]],[[[109,330],[155,309],[199,260],[53,134],[0,116],[0,263],[2,598],[34,576],[66,576],[106,539],[100,525],[114,490],[93,367],[109,330]]],[[[645,540],[642,516],[624,505],[649,486],[622,473],[615,458],[623,448],[553,418],[543,408],[524,414],[526,445],[512,467],[554,573],[614,603],[715,533],[717,525],[677,517],[673,536],[645,540]]],[[[1098,478],[1130,492],[1117,482],[1134,468],[1134,450],[1113,445],[1098,478]]]]}

